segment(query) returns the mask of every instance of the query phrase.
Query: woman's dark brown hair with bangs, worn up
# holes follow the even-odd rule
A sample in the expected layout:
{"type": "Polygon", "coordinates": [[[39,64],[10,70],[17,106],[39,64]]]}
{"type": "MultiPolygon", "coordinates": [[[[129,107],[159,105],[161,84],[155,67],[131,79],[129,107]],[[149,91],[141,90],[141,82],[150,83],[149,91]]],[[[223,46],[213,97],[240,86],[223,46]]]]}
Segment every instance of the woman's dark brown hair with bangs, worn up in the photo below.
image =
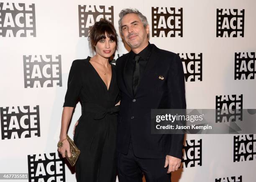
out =
{"type": "Polygon", "coordinates": [[[103,18],[101,18],[100,21],[97,21],[94,25],[90,27],[88,33],[88,40],[90,41],[91,47],[94,51],[96,51],[95,46],[98,41],[106,38],[105,33],[107,33],[108,38],[115,41],[116,51],[118,48],[118,35],[116,33],[115,27],[110,21],[103,18]]]}

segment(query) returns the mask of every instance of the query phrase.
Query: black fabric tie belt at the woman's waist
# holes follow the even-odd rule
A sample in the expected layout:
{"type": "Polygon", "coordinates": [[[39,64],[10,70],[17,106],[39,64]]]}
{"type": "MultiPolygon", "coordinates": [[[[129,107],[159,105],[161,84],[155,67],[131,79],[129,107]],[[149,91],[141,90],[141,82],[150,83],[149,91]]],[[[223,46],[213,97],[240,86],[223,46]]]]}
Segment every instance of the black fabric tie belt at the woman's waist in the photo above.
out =
{"type": "Polygon", "coordinates": [[[104,108],[97,104],[89,104],[89,103],[83,103],[83,107],[82,107],[83,112],[95,113],[95,116],[93,119],[103,119],[107,114],[118,114],[119,109],[120,109],[119,105],[110,107],[110,108],[104,108]]]}

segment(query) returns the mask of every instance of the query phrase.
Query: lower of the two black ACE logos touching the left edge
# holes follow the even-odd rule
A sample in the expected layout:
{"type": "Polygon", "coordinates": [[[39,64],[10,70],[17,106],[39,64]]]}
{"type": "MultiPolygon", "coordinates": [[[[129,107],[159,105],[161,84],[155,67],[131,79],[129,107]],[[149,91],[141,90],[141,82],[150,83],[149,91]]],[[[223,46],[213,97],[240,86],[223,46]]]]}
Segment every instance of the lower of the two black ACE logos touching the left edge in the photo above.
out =
{"type": "Polygon", "coordinates": [[[0,107],[2,139],[40,136],[39,106],[0,107]]]}

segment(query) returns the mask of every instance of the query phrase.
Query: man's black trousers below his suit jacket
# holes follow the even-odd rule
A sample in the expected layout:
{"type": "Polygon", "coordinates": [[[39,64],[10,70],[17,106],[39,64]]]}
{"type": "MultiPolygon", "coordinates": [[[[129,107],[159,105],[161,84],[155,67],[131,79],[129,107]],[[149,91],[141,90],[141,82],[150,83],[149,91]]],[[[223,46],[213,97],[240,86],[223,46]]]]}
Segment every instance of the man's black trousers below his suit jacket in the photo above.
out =
{"type": "Polygon", "coordinates": [[[118,153],[119,182],[142,182],[143,174],[146,182],[171,182],[168,167],[164,168],[164,159],[142,159],[133,153],[132,142],[129,144],[128,154],[118,153]]]}

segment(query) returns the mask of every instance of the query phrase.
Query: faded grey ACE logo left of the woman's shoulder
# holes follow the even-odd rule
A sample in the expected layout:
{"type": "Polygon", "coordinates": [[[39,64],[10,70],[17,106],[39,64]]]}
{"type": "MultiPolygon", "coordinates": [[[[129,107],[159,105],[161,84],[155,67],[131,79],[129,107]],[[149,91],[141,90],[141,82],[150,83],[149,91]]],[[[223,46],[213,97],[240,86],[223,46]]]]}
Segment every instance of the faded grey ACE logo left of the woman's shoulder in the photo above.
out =
{"type": "Polygon", "coordinates": [[[24,55],[24,87],[62,86],[61,55],[24,55]]]}

